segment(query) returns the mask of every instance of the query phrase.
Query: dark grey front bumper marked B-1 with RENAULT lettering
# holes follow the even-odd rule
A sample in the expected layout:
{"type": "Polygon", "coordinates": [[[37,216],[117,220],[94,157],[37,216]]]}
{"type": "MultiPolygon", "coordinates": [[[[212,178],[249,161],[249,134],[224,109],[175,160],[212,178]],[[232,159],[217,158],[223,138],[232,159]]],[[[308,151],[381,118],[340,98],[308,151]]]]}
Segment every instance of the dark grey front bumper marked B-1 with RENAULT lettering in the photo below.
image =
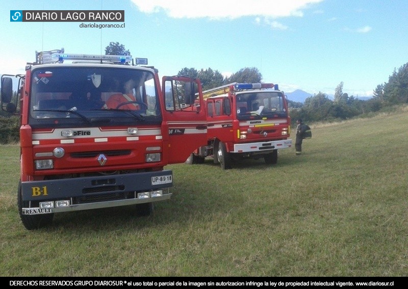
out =
{"type": "Polygon", "coordinates": [[[172,171],[114,174],[21,183],[22,215],[38,215],[166,200],[172,171]],[[67,205],[57,207],[58,202],[67,205]],[[40,207],[50,202],[52,207],[40,207]]]}

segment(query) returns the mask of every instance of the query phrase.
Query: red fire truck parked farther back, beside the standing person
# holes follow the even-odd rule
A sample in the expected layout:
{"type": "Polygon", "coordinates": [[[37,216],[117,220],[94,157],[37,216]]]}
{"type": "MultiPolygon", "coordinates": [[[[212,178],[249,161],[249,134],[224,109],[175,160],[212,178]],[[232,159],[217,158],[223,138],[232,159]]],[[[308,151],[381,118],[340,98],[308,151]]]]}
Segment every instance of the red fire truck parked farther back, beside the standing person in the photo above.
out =
{"type": "Polygon", "coordinates": [[[276,164],[277,150],[292,146],[288,102],[278,85],[231,83],[203,91],[203,97],[208,143],[191,153],[187,164],[203,163],[206,156],[223,169],[261,157],[276,164]]]}

